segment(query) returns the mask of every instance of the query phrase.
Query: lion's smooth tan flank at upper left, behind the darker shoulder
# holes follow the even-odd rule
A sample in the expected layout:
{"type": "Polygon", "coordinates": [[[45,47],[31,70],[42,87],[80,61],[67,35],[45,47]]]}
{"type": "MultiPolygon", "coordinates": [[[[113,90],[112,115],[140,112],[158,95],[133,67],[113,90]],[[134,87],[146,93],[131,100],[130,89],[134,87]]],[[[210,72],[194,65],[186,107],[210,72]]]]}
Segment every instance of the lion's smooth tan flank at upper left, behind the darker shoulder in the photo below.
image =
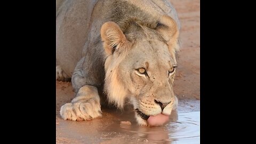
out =
{"type": "Polygon", "coordinates": [[[71,77],[77,62],[82,58],[89,20],[97,0],[59,0],[56,3],[56,58],[71,77]]]}

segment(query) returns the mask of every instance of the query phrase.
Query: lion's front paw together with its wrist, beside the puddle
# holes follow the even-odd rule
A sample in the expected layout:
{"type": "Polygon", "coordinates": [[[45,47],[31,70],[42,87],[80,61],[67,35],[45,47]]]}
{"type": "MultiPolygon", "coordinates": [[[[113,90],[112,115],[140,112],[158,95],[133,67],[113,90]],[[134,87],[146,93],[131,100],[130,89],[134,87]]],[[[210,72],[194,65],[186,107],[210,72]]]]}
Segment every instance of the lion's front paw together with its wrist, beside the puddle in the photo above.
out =
{"type": "Polygon", "coordinates": [[[97,87],[82,86],[71,103],[61,106],[60,115],[63,119],[72,121],[84,121],[101,117],[102,112],[97,87]]]}

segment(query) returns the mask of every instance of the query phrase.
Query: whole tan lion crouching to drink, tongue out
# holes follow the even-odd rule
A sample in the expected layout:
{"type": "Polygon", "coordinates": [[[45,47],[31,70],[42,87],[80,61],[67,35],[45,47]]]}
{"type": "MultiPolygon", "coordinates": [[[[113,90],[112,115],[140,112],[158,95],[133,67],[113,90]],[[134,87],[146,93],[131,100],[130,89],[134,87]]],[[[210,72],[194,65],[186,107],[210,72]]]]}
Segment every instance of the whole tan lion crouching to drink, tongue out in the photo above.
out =
{"type": "MultiPolygon", "coordinates": [[[[101,106],[129,101],[142,126],[167,122],[180,22],[169,1],[60,1],[56,10],[56,79],[71,78],[75,98],[61,106],[71,121],[102,117],[101,106]]],[[[58,3],[58,2],[57,2],[58,3]]]]}

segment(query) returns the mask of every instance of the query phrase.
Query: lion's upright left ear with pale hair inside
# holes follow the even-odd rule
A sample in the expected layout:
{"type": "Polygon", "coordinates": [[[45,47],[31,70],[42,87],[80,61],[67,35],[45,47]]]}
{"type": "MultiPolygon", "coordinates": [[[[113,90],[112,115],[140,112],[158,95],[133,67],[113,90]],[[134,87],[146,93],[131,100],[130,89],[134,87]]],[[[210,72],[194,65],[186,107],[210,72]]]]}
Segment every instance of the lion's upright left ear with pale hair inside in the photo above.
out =
{"type": "Polygon", "coordinates": [[[100,35],[107,55],[113,54],[116,49],[127,43],[123,31],[113,21],[105,22],[102,25],[100,35]]]}

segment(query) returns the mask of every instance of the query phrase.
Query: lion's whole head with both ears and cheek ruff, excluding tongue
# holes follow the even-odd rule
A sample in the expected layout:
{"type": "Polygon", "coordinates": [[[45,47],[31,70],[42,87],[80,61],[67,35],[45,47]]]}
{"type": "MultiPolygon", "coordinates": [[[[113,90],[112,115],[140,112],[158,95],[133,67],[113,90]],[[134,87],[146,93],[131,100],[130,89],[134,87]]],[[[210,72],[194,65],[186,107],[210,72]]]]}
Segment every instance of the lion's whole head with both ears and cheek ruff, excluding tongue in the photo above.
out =
{"type": "Polygon", "coordinates": [[[101,27],[105,92],[119,108],[130,99],[140,125],[148,125],[149,116],[170,115],[177,105],[173,82],[178,36],[176,22],[167,15],[151,23],[131,18],[101,27]]]}

